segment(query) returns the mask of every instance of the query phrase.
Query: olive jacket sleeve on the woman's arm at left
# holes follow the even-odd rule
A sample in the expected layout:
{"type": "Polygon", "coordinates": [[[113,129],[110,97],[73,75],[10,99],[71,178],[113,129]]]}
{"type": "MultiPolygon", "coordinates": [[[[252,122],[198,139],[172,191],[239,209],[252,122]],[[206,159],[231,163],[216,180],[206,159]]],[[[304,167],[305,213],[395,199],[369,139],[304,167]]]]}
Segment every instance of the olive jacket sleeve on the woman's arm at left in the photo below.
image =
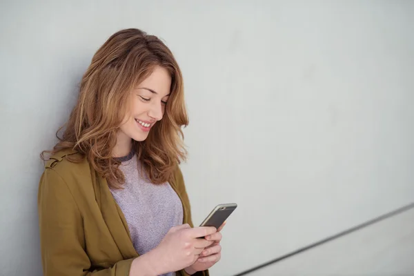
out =
{"type": "Polygon", "coordinates": [[[41,176],[37,203],[44,276],[129,275],[133,259],[90,271],[81,213],[66,182],[52,168],[46,168],[41,176]]]}

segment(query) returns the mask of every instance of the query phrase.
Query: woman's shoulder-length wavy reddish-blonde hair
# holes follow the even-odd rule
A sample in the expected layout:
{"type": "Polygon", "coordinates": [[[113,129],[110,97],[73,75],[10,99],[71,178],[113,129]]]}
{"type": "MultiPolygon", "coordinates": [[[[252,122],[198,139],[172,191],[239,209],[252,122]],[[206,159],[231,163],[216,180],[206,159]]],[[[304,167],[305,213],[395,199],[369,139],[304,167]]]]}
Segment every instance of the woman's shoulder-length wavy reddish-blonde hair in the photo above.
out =
{"type": "Polygon", "coordinates": [[[187,154],[181,130],[188,125],[183,78],[168,47],[159,38],[134,28],[112,34],[92,57],[81,79],[77,104],[66,124],[57,130],[59,142],[52,150],[41,152],[41,159],[46,161],[46,154],[61,150],[75,150],[80,155],[68,156],[70,161],[79,162],[86,157],[110,186],[121,188],[125,177],[112,150],[132,88],[146,79],[155,66],[170,72],[170,97],[163,119],[151,128],[145,141],[133,141],[132,149],[154,184],[168,181],[187,154]]]}

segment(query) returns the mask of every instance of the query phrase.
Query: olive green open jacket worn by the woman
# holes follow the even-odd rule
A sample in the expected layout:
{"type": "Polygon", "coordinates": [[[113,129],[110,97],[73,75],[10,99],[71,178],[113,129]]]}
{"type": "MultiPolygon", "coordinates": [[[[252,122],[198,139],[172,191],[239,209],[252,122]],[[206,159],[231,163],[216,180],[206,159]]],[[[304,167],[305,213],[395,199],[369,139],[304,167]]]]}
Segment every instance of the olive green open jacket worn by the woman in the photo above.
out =
{"type": "MultiPolygon", "coordinates": [[[[139,257],[125,217],[106,179],[86,159],[72,163],[65,150],[50,157],[38,194],[43,275],[127,276],[139,257]]],[[[170,185],[181,199],[183,224],[193,227],[184,179],[177,166],[170,185]]],[[[208,275],[205,270],[197,275],[208,275]]],[[[177,275],[187,275],[184,270],[177,275]]]]}

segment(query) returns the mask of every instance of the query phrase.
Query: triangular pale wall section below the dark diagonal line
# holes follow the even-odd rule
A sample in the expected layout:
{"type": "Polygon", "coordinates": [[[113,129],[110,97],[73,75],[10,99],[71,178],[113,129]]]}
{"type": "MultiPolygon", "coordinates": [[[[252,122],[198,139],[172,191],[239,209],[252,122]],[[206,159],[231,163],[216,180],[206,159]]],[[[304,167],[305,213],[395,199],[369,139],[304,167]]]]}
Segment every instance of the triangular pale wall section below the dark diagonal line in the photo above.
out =
{"type": "Polygon", "coordinates": [[[249,276],[413,275],[413,221],[411,208],[249,276]]]}

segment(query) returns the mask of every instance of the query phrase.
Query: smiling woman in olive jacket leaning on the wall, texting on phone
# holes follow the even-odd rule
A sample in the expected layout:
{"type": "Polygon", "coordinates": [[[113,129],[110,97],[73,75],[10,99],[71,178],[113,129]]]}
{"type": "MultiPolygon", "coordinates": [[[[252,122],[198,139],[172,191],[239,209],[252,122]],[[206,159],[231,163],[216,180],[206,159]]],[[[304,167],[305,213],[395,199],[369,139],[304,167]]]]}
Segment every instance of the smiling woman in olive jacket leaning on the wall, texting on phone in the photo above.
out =
{"type": "Polygon", "coordinates": [[[141,30],[113,34],[62,137],[41,155],[44,275],[208,275],[221,228],[193,228],[179,170],[187,124],[170,50],[141,30]]]}

